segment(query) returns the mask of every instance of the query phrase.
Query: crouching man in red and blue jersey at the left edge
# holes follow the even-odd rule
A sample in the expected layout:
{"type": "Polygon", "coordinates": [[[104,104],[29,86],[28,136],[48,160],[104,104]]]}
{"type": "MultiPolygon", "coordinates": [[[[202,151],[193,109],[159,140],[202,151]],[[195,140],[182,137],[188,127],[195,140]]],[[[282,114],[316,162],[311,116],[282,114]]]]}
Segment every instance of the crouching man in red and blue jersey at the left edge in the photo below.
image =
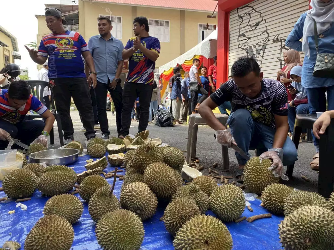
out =
{"type": "MultiPolygon", "coordinates": [[[[26,145],[35,142],[47,146],[49,132],[54,116],[36,97],[30,94],[27,82],[13,81],[8,89],[0,90],[0,150],[7,148],[11,138],[26,145]],[[24,120],[29,110],[35,111],[45,119],[24,120]]],[[[21,149],[13,144],[12,149],[21,149]]]]}

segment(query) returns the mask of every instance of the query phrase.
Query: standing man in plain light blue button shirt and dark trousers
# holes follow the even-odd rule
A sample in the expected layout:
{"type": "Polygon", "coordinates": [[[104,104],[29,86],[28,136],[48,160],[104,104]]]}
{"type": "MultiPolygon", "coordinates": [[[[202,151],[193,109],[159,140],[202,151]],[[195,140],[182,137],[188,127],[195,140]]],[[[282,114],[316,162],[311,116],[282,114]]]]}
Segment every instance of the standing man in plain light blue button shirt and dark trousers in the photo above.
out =
{"type": "MultiPolygon", "coordinates": [[[[98,30],[100,35],[92,36],[88,42],[88,48],[94,60],[97,72],[97,84],[94,86],[98,106],[98,118],[101,126],[102,139],[109,139],[109,124],[107,118],[107,91],[115,104],[116,126],[118,136],[122,128],[122,92],[121,73],[124,60],[122,51],[123,43],[113,37],[111,30],[113,26],[107,17],[98,18],[98,30]]],[[[86,67],[86,75],[89,70],[86,67]]]]}

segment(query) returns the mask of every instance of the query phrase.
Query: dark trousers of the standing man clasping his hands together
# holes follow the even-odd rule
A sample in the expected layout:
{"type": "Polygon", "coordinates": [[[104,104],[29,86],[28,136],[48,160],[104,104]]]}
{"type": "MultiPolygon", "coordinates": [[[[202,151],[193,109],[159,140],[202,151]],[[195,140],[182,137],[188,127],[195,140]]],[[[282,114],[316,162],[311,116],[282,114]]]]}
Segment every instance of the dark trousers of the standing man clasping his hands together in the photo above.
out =
{"type": "Polygon", "coordinates": [[[145,131],[148,125],[150,102],[152,98],[152,85],[125,82],[123,88],[122,129],[120,134],[129,134],[131,125],[131,110],[135,100],[139,97],[139,124],[138,132],[145,131]]]}

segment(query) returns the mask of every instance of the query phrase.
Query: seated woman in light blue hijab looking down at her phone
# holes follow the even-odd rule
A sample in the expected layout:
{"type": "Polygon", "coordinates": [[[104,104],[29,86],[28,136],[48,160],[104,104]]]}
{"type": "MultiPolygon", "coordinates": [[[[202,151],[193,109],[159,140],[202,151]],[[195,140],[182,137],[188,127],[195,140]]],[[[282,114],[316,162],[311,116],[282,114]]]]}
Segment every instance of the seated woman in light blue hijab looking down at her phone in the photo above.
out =
{"type": "MultiPolygon", "coordinates": [[[[299,114],[308,114],[309,113],[309,105],[307,99],[307,93],[305,88],[302,86],[302,66],[298,65],[292,68],[290,71],[290,76],[293,82],[291,86],[293,88],[289,88],[288,91],[291,95],[296,96],[294,100],[289,102],[288,106],[288,122],[291,133],[289,133],[290,138],[293,136],[293,129],[295,126],[296,115],[299,114]]],[[[303,138],[306,135],[306,129],[302,131],[302,135],[300,138],[303,138]]],[[[300,141],[301,142],[301,141],[300,141]]]]}

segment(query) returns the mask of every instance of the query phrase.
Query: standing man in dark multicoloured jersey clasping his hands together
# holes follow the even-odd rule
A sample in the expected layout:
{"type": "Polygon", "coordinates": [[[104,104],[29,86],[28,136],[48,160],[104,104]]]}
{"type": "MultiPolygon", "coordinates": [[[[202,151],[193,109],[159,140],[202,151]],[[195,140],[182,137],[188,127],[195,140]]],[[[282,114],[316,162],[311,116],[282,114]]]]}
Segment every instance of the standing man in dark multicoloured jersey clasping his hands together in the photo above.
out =
{"type": "Polygon", "coordinates": [[[145,131],[148,125],[155,62],[160,54],[158,38],[149,35],[146,17],[136,17],[133,21],[135,37],[129,39],[122,56],[129,59],[129,73],[123,88],[122,129],[120,138],[129,134],[131,111],[139,97],[138,133],[145,131]]]}

